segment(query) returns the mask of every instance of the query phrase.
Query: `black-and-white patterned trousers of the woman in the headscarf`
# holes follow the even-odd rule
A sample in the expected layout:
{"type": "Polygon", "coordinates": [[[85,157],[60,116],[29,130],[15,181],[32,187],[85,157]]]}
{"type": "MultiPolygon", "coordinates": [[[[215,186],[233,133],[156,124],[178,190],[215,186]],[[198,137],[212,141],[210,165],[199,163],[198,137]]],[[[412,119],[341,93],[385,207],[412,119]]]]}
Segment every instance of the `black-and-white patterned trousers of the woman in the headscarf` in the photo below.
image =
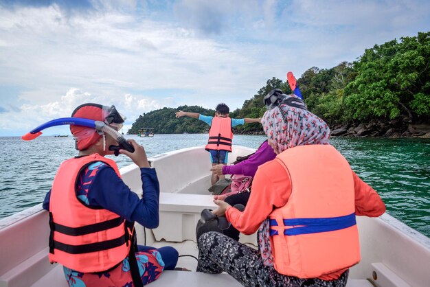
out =
{"type": "MultiPolygon", "coordinates": [[[[210,231],[199,238],[197,272],[218,274],[227,272],[243,286],[346,286],[349,271],[337,280],[301,279],[282,275],[265,266],[256,249],[239,243],[222,233],[210,231]]],[[[324,264],[324,263],[321,263],[324,264]]]]}

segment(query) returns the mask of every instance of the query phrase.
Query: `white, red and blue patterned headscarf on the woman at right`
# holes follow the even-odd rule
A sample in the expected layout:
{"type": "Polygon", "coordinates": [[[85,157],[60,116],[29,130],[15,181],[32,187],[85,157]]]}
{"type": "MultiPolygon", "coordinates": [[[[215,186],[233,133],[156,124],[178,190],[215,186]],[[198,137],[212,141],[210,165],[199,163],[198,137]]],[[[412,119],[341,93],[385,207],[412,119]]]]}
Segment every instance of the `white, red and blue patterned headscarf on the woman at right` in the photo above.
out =
{"type": "Polygon", "coordinates": [[[330,137],[330,128],[326,122],[310,111],[287,104],[280,104],[266,111],[261,124],[264,133],[280,152],[306,144],[328,144],[330,137]]]}

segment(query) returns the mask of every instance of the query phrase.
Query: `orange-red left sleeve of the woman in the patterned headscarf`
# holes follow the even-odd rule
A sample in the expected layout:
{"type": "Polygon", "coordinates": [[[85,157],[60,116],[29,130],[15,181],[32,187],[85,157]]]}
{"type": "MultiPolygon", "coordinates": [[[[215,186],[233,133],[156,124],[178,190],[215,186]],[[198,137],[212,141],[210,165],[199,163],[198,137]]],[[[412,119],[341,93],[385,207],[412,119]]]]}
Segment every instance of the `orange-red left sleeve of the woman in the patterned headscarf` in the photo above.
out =
{"type": "Polygon", "coordinates": [[[290,194],[291,182],[288,174],[278,161],[269,161],[260,165],[257,170],[245,210],[240,212],[234,207],[229,207],[225,215],[238,231],[252,234],[271,214],[273,207],[282,207],[286,204],[290,194]],[[275,174],[269,172],[273,169],[281,172],[275,174]]]}

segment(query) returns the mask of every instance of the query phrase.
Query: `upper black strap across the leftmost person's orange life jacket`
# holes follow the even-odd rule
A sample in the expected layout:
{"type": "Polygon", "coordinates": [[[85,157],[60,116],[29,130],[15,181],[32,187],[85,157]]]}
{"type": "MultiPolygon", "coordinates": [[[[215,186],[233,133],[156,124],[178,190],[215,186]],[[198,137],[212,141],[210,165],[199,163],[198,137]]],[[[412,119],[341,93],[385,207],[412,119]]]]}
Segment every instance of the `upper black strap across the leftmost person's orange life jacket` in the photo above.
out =
{"type": "MultiPolygon", "coordinates": [[[[51,220],[51,218],[49,218],[49,220],[51,220]]],[[[51,227],[51,229],[54,228],[54,231],[66,234],[68,236],[83,236],[89,233],[95,233],[118,227],[122,224],[122,222],[124,222],[124,219],[121,217],[117,217],[111,220],[94,223],[92,225],[85,225],[82,227],[67,227],[65,225],[60,225],[55,222],[52,222],[52,225],[50,222],[49,226],[51,227]]]]}

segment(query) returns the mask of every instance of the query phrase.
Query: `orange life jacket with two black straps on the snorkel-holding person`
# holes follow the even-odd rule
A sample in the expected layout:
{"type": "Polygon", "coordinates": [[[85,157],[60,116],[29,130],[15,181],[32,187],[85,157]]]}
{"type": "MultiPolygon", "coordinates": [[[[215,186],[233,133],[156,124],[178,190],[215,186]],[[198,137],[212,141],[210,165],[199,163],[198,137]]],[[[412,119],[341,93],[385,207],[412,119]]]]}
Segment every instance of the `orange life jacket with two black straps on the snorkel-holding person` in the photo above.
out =
{"type": "Polygon", "coordinates": [[[115,161],[91,154],[61,163],[49,200],[49,261],[82,273],[106,271],[128,255],[131,231],[124,219],[106,210],[85,206],[76,197],[80,172],[102,161],[120,176],[115,161]]]}

